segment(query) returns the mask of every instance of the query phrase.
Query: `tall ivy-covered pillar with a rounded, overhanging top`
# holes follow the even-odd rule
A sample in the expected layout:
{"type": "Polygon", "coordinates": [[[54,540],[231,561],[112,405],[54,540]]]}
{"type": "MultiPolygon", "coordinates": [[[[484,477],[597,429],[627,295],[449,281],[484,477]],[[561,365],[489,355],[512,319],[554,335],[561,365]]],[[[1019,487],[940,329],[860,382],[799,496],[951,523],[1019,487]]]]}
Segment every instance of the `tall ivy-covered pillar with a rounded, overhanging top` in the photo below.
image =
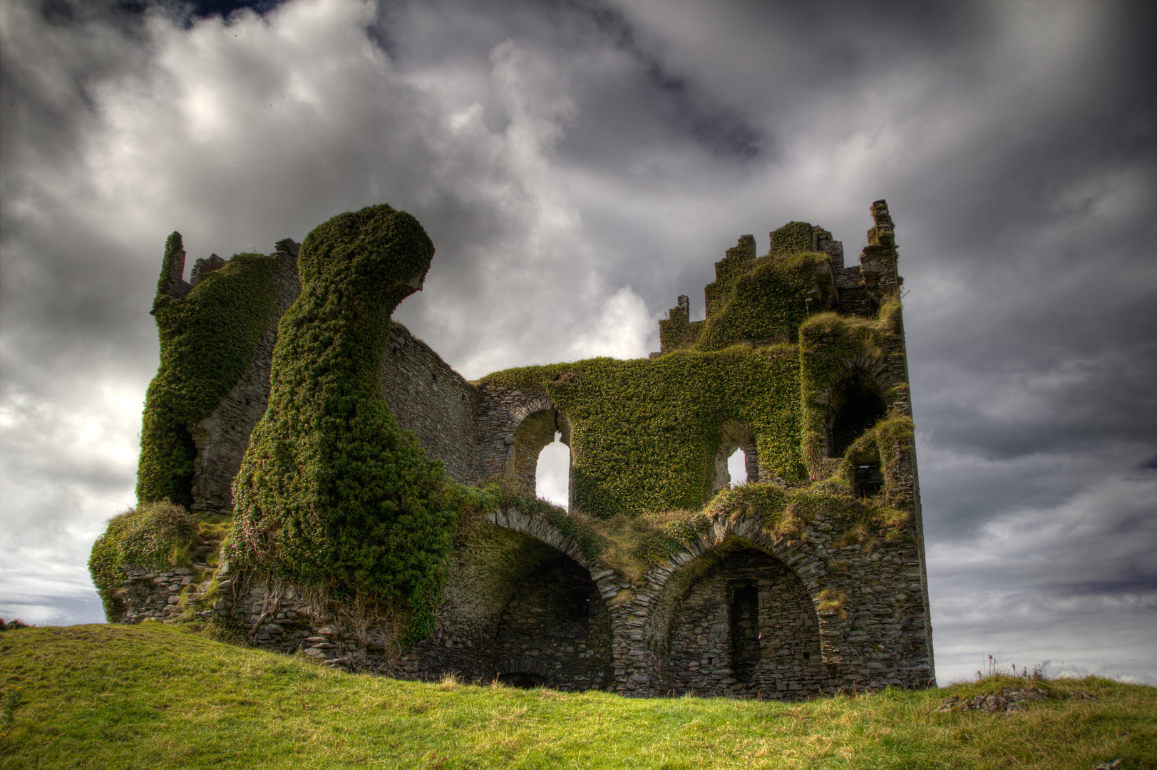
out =
{"type": "Polygon", "coordinates": [[[302,244],[270,403],[234,481],[230,563],[331,595],[392,602],[430,623],[458,500],[381,391],[390,314],[421,286],[434,245],[379,205],[302,244]]]}

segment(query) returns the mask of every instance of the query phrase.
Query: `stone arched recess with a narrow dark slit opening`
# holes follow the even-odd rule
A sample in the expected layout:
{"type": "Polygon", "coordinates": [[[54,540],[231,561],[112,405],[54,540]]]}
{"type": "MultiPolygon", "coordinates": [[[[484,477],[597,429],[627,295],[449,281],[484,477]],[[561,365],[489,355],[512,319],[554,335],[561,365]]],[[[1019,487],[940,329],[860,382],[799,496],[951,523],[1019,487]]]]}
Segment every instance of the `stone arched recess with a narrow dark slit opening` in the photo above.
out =
{"type": "Polygon", "coordinates": [[[799,578],[756,549],[716,558],[672,615],[672,695],[797,701],[819,692],[828,677],[819,618],[799,578]]]}

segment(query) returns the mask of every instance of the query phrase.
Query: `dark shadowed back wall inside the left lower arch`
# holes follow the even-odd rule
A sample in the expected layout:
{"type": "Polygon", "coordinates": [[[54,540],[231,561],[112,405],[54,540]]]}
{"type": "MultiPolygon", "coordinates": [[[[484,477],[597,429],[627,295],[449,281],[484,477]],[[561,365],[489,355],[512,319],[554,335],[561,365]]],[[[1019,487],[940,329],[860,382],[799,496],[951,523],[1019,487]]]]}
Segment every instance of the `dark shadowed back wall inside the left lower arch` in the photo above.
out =
{"type": "Polygon", "coordinates": [[[554,551],[515,587],[494,635],[499,681],[603,690],[611,682],[611,615],[590,573],[554,551]]]}

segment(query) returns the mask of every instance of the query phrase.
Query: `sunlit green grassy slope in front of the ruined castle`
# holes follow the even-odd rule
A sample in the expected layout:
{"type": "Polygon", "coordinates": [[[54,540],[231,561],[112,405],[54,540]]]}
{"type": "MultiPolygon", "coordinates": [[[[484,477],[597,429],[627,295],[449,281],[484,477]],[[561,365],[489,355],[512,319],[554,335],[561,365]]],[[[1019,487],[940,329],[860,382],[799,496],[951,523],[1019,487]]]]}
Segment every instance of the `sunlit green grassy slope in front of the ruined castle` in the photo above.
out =
{"type": "Polygon", "coordinates": [[[0,675],[2,769],[1157,769],[1157,689],[1093,677],[644,701],[352,676],[161,624],[6,631],[0,675]],[[1053,697],[1019,713],[936,710],[1009,684],[1053,697]]]}

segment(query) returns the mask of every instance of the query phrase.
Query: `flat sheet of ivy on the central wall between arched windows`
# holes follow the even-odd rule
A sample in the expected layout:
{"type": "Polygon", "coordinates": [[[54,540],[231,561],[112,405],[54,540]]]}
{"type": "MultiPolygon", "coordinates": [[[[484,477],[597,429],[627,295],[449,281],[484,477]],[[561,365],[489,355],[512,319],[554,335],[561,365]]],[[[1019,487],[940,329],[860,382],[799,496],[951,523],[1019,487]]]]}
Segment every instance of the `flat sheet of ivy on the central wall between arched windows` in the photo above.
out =
{"type": "Polygon", "coordinates": [[[768,472],[802,479],[798,371],[793,346],[735,346],[523,367],[485,381],[551,397],[572,425],[574,507],[611,519],[702,506],[728,418],[753,428],[768,472]]]}

